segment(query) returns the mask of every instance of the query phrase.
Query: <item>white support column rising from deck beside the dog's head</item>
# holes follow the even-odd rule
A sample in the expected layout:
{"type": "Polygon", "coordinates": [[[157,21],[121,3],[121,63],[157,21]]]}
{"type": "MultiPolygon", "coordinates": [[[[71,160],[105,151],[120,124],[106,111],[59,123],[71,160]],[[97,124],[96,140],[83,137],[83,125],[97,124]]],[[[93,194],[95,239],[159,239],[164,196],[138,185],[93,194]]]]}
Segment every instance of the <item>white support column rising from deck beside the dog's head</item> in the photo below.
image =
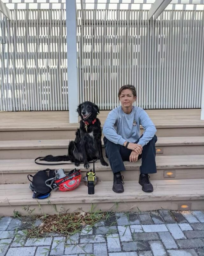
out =
{"type": "Polygon", "coordinates": [[[66,0],[69,123],[78,123],[76,0],[66,0]]]}

